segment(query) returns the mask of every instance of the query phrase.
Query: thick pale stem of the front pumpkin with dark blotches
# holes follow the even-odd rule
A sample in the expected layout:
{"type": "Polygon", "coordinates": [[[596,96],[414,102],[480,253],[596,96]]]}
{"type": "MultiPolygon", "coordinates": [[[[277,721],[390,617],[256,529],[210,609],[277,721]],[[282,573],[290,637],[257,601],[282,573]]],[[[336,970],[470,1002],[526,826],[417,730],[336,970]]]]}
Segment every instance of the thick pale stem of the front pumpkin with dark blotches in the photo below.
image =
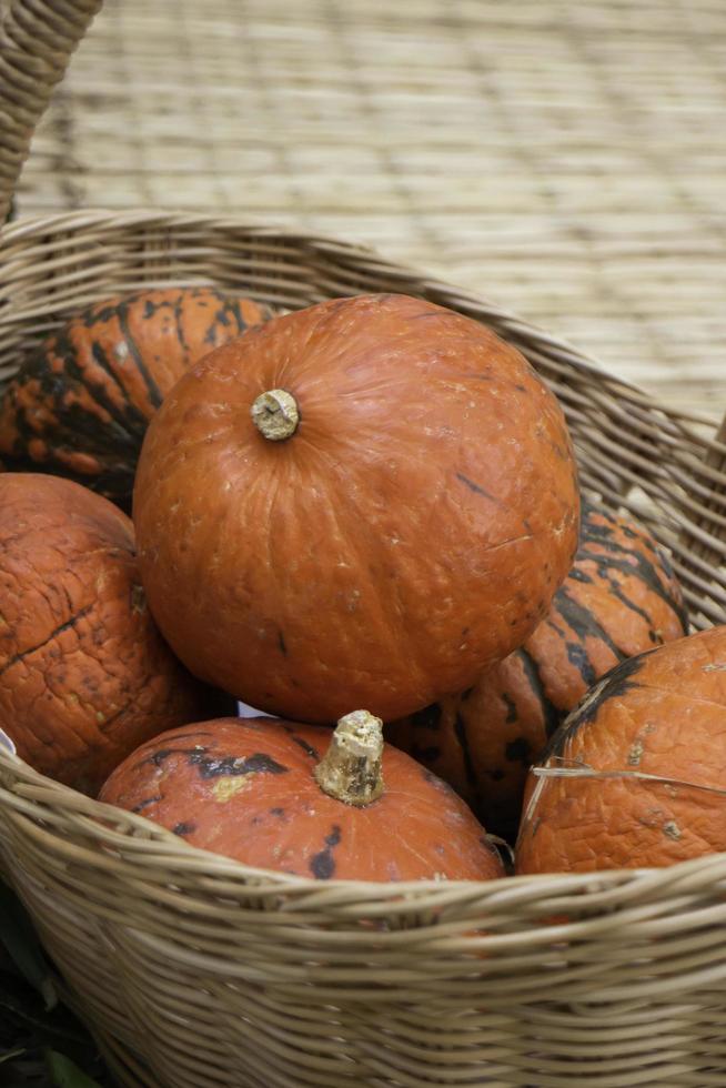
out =
{"type": "Polygon", "coordinates": [[[342,717],[313,774],[320,788],[346,805],[370,805],[383,793],[383,723],[367,711],[342,717]]]}

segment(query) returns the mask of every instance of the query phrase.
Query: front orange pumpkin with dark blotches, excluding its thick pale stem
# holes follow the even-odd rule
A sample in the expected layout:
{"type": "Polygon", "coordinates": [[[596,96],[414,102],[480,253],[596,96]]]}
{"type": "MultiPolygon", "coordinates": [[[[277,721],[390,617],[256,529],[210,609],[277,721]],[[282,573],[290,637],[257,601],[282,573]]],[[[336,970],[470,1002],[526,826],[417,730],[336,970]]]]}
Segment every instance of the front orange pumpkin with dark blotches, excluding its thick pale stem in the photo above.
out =
{"type": "Polygon", "coordinates": [[[386,746],[383,796],[364,807],[313,778],[331,731],[221,718],[164,733],[111,775],[99,799],[141,813],[194,846],[316,879],[486,880],[502,862],[466,805],[386,746]]]}

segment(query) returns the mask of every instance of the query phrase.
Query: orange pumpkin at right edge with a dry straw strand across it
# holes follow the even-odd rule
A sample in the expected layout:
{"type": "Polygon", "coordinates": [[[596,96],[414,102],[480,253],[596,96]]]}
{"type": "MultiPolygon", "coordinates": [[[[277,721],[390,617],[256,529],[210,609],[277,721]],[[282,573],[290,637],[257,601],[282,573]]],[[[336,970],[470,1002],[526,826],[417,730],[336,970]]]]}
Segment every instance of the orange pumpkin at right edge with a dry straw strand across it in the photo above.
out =
{"type": "Polygon", "coordinates": [[[520,874],[661,867],[726,850],[726,626],[632,657],[553,736],[527,783],[520,874]],[[637,775],[666,778],[652,782],[637,775]],[[689,785],[690,784],[690,785],[689,785]]]}

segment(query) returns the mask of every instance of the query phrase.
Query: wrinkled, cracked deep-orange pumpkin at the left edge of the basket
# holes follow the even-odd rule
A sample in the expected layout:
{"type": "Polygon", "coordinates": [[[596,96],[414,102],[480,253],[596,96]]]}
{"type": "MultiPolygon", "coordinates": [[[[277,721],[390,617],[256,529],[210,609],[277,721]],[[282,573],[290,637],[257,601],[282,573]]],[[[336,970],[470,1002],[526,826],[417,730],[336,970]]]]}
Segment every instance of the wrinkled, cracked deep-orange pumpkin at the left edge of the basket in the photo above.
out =
{"type": "Polygon", "coordinates": [[[0,728],[42,774],[95,794],[206,692],[147,607],[133,526],[57,476],[0,476],[0,728]]]}

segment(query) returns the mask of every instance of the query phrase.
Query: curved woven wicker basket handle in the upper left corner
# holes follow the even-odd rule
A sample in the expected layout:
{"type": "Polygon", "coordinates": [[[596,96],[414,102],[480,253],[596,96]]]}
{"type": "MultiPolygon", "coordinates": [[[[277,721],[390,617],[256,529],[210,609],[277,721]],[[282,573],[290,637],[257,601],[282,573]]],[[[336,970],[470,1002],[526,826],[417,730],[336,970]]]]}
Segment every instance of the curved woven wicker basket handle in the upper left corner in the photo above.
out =
{"type": "Polygon", "coordinates": [[[0,23],[0,223],[36,125],[102,0],[6,0],[0,23]]]}

